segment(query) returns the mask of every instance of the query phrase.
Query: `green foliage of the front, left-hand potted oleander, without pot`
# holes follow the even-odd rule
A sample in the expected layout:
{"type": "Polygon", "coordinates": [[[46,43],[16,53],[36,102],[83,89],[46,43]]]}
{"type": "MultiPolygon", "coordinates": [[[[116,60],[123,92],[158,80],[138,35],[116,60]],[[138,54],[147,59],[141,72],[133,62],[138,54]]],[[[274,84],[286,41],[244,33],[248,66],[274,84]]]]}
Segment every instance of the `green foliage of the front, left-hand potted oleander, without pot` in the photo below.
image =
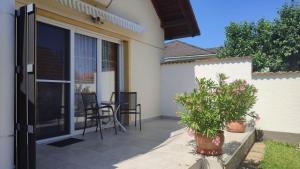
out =
{"type": "Polygon", "coordinates": [[[210,79],[196,79],[198,88],[191,93],[176,96],[176,102],[185,110],[179,112],[181,122],[194,132],[214,137],[224,127],[224,116],[218,108],[218,84],[210,79]]]}

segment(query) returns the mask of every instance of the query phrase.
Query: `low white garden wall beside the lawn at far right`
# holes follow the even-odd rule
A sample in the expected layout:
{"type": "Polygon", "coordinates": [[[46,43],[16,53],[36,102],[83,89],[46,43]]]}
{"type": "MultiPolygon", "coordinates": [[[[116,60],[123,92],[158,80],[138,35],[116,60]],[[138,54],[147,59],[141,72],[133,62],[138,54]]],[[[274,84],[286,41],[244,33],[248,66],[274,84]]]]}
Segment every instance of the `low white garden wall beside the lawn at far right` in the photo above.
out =
{"type": "Polygon", "coordinates": [[[261,119],[257,128],[300,133],[300,73],[254,75],[258,101],[254,110],[261,119]]]}

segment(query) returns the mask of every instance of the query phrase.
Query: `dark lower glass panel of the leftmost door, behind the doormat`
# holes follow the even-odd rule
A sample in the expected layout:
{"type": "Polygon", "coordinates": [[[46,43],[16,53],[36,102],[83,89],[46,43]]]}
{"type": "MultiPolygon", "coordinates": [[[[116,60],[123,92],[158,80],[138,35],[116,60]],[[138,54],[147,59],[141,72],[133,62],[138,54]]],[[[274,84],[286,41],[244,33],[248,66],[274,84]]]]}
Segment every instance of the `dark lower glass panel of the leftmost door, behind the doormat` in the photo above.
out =
{"type": "Polygon", "coordinates": [[[38,83],[37,107],[39,139],[68,134],[69,84],[38,83]]]}

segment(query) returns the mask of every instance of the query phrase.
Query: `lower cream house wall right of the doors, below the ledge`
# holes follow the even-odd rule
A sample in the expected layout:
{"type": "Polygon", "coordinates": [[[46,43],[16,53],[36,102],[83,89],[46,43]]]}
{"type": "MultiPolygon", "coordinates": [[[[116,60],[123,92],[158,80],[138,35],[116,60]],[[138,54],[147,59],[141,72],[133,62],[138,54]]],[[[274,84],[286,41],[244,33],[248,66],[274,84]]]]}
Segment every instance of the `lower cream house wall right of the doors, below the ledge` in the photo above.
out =
{"type": "Polygon", "coordinates": [[[162,50],[131,41],[130,53],[130,91],[138,93],[138,103],[142,105],[142,118],[160,116],[159,79],[162,50]]]}

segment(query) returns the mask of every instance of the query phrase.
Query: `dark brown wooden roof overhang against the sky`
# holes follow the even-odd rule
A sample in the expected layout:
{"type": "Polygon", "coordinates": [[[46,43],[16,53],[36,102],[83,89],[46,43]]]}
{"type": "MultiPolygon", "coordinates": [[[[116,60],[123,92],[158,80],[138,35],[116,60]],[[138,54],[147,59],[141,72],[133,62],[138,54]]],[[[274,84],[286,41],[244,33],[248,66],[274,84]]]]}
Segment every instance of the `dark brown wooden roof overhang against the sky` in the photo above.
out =
{"type": "Polygon", "coordinates": [[[200,35],[189,0],[151,0],[165,32],[165,40],[200,35]]]}

